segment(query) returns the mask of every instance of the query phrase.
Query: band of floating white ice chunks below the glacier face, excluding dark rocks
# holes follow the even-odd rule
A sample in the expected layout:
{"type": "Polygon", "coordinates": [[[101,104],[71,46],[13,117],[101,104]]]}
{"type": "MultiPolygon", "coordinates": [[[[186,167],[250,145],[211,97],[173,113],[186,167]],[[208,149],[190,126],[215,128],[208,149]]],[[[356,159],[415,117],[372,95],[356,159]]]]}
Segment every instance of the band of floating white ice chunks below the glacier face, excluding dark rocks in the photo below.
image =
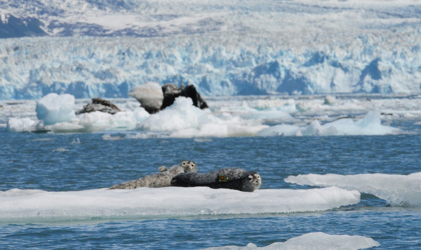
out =
{"type": "Polygon", "coordinates": [[[421,132],[418,95],[209,97],[209,109],[203,110],[180,97],[156,114],[147,113],[132,98],[110,100],[122,112],[76,115],[90,100],[68,94],[51,94],[37,101],[2,101],[0,126],[8,132],[101,132],[104,140],[421,132]],[[118,133],[122,134],[113,136],[118,133]]]}

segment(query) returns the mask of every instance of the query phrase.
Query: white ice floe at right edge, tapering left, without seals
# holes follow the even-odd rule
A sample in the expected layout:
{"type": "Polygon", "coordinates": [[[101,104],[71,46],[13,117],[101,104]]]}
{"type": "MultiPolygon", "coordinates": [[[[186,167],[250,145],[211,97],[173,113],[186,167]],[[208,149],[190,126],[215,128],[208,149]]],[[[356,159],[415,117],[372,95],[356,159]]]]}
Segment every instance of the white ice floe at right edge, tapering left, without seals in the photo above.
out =
{"type": "Polygon", "coordinates": [[[358,174],[358,175],[298,175],[286,182],[300,185],[335,186],[373,194],[391,205],[421,206],[421,172],[410,175],[358,174]]]}

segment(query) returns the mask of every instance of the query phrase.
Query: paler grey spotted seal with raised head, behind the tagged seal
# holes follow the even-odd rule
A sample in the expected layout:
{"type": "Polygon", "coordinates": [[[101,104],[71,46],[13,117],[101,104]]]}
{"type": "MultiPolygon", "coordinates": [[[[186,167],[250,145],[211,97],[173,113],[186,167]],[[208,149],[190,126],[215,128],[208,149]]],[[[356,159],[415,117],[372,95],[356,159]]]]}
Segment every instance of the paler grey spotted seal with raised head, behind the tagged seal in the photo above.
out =
{"type": "Polygon", "coordinates": [[[135,189],[138,187],[169,187],[171,179],[181,173],[197,172],[197,165],[194,161],[185,160],[180,165],[173,165],[167,169],[166,166],[160,166],[158,170],[161,173],[145,176],[136,180],[131,180],[111,186],[109,189],[135,189]]]}

